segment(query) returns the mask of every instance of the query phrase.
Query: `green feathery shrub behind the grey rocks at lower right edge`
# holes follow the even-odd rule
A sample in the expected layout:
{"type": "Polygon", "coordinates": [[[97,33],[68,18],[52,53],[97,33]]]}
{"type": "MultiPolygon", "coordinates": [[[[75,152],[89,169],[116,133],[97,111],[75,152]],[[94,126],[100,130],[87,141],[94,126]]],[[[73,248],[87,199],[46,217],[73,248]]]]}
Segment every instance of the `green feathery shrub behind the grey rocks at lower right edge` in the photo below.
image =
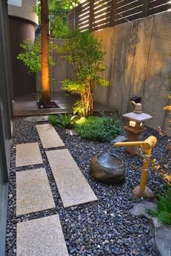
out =
{"type": "Polygon", "coordinates": [[[158,196],[157,212],[149,210],[153,217],[157,217],[164,225],[171,225],[171,187],[167,186],[164,195],[158,196]]]}

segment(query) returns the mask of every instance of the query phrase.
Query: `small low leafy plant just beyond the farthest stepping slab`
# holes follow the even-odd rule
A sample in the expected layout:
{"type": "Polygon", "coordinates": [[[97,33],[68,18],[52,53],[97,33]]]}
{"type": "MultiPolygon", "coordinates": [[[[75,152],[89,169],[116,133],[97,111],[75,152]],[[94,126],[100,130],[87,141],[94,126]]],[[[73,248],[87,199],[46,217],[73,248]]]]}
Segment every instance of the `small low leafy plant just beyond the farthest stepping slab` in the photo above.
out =
{"type": "Polygon", "coordinates": [[[59,126],[61,128],[73,128],[75,125],[75,118],[76,115],[71,115],[70,113],[67,114],[59,114],[59,115],[51,115],[49,116],[49,123],[54,126],[59,126]]]}

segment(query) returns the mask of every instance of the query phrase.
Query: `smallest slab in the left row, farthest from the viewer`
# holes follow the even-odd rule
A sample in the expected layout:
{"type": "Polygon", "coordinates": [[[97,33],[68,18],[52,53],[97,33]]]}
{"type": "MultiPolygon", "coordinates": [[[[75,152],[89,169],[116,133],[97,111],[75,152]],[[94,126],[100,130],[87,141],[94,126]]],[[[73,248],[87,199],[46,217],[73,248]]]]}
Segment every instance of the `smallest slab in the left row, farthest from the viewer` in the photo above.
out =
{"type": "Polygon", "coordinates": [[[42,164],[41,152],[38,143],[17,144],[16,167],[42,164]]]}

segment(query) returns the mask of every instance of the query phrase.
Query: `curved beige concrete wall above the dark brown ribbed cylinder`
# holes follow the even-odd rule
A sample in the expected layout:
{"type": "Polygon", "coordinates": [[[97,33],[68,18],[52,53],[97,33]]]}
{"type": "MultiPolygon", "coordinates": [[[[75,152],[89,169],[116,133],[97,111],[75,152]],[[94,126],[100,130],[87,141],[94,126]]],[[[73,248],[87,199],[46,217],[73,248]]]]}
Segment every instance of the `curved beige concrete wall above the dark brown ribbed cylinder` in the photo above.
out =
{"type": "Polygon", "coordinates": [[[8,14],[10,16],[20,17],[25,20],[29,20],[37,25],[38,16],[36,15],[36,12],[33,12],[33,7],[36,5],[36,2],[37,0],[22,0],[22,6],[20,7],[11,5],[9,1],[8,14]]]}

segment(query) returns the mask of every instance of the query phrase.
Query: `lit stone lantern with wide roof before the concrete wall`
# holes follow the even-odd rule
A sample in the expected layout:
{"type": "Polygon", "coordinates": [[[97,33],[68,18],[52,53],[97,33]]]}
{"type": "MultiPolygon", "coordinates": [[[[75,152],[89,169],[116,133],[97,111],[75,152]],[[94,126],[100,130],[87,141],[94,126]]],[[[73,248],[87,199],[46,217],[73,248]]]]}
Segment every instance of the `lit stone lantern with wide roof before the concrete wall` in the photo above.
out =
{"type": "MultiPolygon", "coordinates": [[[[122,115],[122,117],[128,119],[125,131],[128,133],[128,141],[140,141],[141,133],[146,131],[144,123],[146,120],[150,120],[152,117],[142,111],[142,104],[135,104],[135,110],[133,112],[122,115]]],[[[139,146],[128,146],[128,152],[130,154],[137,154],[139,146]]]]}

